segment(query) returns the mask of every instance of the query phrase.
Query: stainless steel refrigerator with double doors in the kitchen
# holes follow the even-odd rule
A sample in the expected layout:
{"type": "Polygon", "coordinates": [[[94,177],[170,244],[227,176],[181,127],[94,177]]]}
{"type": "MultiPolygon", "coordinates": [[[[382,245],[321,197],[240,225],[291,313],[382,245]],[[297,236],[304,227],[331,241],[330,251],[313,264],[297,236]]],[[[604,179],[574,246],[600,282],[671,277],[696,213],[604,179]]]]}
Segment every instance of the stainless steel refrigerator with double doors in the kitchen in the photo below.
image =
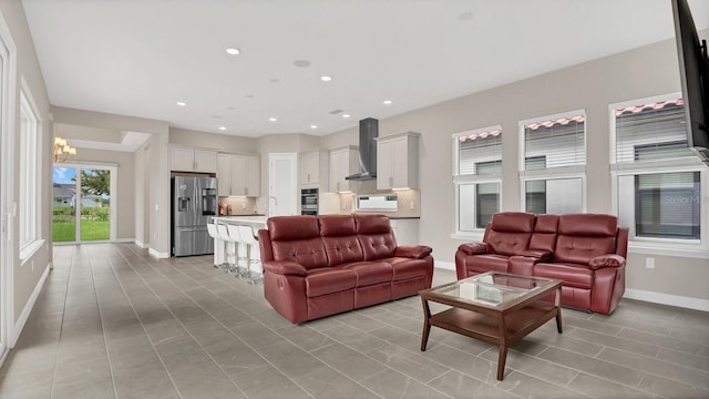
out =
{"type": "Polygon", "coordinates": [[[173,256],[214,253],[207,223],[217,214],[216,177],[172,177],[173,256]]]}

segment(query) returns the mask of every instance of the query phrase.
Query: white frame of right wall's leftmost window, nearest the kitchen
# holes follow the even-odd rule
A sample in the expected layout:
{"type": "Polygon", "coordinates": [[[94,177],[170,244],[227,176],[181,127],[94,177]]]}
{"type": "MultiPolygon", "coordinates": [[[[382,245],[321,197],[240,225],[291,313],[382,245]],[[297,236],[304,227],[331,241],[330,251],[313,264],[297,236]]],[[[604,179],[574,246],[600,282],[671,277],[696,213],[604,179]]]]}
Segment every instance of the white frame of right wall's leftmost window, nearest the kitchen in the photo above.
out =
{"type": "MultiPolygon", "coordinates": [[[[460,187],[461,185],[467,185],[467,184],[484,184],[484,183],[496,183],[500,186],[500,194],[499,194],[499,200],[497,200],[497,207],[501,208],[502,207],[502,195],[503,195],[503,188],[502,188],[502,172],[500,173],[494,173],[494,174],[484,174],[484,175],[476,175],[476,174],[461,174],[460,173],[460,139],[462,136],[469,136],[469,135],[473,135],[473,134],[481,134],[484,132],[492,132],[492,131],[502,131],[502,126],[501,125],[493,125],[493,126],[487,126],[487,127],[482,127],[482,129],[474,129],[474,130],[470,130],[470,131],[464,131],[464,132],[458,132],[458,133],[453,133],[452,134],[452,151],[453,151],[453,197],[454,197],[454,212],[453,212],[453,233],[451,234],[452,238],[461,238],[461,239],[482,239],[485,229],[484,228],[474,228],[473,231],[461,231],[461,226],[460,226],[460,206],[461,206],[461,201],[460,201],[460,187]]],[[[502,161],[504,164],[504,160],[502,160],[502,151],[500,154],[500,158],[496,157],[490,157],[490,158],[483,158],[480,160],[480,162],[492,162],[492,161],[502,161]]],[[[473,200],[473,203],[471,204],[471,206],[473,208],[476,207],[476,204],[474,203],[475,200],[473,200]]],[[[476,222],[476,221],[475,221],[476,222]]],[[[477,224],[477,223],[475,223],[477,224]]]]}

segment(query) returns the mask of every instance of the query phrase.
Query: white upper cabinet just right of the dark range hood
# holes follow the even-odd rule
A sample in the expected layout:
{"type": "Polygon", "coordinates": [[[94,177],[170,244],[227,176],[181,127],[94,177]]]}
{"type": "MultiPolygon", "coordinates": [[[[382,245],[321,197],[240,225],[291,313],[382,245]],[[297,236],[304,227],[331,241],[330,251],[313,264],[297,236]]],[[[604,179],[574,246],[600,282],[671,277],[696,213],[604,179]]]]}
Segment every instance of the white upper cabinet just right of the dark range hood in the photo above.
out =
{"type": "Polygon", "coordinates": [[[377,137],[377,190],[419,188],[419,136],[377,137]]]}

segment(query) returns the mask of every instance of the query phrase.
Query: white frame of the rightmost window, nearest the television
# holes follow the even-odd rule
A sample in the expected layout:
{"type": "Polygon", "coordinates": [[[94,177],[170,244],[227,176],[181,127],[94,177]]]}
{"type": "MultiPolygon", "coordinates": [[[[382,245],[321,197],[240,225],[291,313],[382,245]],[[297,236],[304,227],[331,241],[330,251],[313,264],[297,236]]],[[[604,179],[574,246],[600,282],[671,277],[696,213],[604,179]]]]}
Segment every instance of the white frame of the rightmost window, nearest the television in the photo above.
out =
{"type": "Polygon", "coordinates": [[[638,104],[649,104],[655,102],[664,102],[675,99],[681,99],[680,92],[656,95],[645,99],[637,99],[608,104],[609,120],[609,151],[610,151],[610,195],[612,212],[618,215],[620,209],[618,180],[621,176],[635,176],[640,174],[656,173],[678,173],[678,172],[699,172],[699,181],[701,185],[700,197],[700,233],[699,239],[682,238],[660,238],[660,237],[637,237],[635,235],[635,226],[626,226],[629,228],[628,252],[635,254],[647,255],[667,255],[679,257],[709,257],[709,167],[707,167],[696,156],[677,157],[667,161],[653,160],[647,162],[617,163],[616,160],[616,110],[638,104]]]}

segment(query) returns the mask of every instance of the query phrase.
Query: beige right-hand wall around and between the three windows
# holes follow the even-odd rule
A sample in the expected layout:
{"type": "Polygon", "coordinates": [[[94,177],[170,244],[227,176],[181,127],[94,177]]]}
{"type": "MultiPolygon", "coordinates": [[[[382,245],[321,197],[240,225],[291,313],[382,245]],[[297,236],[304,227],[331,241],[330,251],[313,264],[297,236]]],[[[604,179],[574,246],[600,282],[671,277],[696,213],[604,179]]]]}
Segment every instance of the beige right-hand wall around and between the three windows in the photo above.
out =
{"type": "MultiPolygon", "coordinates": [[[[705,35],[707,35],[705,33],[705,35]]],[[[502,125],[502,209],[520,211],[517,172],[521,120],[582,110],[587,115],[587,212],[610,213],[610,103],[679,92],[674,41],[664,41],[613,57],[454,99],[379,121],[379,135],[419,132],[421,222],[420,242],[433,247],[436,262],[454,262],[461,239],[454,228],[452,139],[456,132],[502,125]]],[[[326,149],[357,143],[357,129],[322,137],[326,149]]],[[[627,287],[641,291],[709,299],[707,258],[657,256],[645,268],[644,254],[628,256],[627,287]]]]}

